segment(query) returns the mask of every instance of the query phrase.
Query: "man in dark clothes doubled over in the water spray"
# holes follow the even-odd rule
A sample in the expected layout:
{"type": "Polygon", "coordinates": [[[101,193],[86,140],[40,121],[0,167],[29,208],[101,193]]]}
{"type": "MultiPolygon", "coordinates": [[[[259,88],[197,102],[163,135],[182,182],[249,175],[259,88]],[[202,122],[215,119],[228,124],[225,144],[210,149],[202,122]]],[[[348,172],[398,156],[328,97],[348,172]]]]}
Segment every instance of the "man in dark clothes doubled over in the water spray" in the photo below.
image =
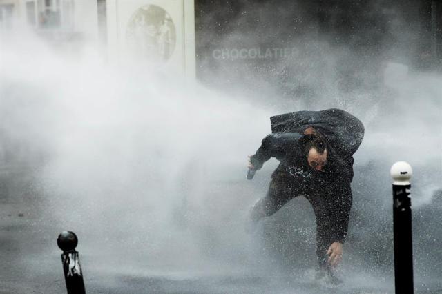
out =
{"type": "Polygon", "coordinates": [[[338,109],[292,112],[271,120],[273,133],[249,158],[249,170],[253,175],[271,157],[280,164],[271,175],[266,197],[253,206],[250,217],[258,222],[294,197],[306,197],[316,216],[318,274],[327,274],[338,284],[332,266],[343,257],[352,207],[352,155],[361,144],[363,125],[338,109]]]}

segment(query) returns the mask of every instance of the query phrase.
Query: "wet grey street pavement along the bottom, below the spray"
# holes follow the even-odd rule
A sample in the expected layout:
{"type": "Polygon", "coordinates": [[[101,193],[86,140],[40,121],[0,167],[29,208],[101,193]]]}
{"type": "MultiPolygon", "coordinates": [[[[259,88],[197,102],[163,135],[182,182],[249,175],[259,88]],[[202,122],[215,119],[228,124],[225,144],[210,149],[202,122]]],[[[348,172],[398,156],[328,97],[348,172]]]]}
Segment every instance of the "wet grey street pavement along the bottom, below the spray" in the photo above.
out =
{"type": "MultiPolygon", "coordinates": [[[[61,251],[56,245],[61,227],[43,213],[47,209],[44,187],[39,186],[35,176],[35,169],[26,165],[4,166],[0,173],[0,293],[66,291],[61,251]]],[[[346,275],[344,284],[334,287],[314,280],[311,266],[285,273],[273,269],[266,272],[265,266],[256,271],[240,266],[241,262],[226,266],[228,262],[218,259],[202,262],[201,266],[196,261],[186,269],[185,264],[181,268],[161,264],[161,256],[145,256],[142,248],[139,248],[140,259],[136,259],[133,252],[130,258],[125,258],[122,247],[114,253],[109,253],[111,249],[99,253],[86,248],[85,243],[93,241],[84,242],[79,235],[77,249],[87,293],[394,292],[391,277],[346,275]]],[[[416,293],[442,293],[441,282],[416,283],[416,293]]]]}

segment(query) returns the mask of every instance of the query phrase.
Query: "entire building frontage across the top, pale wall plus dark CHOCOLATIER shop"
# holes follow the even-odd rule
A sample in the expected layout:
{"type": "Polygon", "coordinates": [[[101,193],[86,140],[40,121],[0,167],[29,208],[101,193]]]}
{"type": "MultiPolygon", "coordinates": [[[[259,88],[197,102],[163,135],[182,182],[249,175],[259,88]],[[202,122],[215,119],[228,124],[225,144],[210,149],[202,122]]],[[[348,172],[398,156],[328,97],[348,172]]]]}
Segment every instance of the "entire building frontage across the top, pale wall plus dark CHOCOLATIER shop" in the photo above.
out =
{"type": "Polygon", "coordinates": [[[0,0],[0,30],[26,25],[96,41],[111,62],[306,99],[326,79],[342,92],[376,88],[383,60],[439,69],[441,17],[435,0],[0,0]]]}

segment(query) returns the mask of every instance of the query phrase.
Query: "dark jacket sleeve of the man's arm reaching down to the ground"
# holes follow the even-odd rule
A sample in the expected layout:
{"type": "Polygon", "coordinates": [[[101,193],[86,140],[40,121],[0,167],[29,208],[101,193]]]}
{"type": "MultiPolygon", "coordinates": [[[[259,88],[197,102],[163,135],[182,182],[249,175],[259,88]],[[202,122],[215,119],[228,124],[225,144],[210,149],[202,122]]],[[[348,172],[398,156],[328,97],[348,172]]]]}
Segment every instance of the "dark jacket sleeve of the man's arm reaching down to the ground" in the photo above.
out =
{"type": "Polygon", "coordinates": [[[336,187],[332,203],[332,234],[334,241],[344,243],[348,232],[350,209],[352,208],[352,188],[349,181],[341,182],[336,187]]]}

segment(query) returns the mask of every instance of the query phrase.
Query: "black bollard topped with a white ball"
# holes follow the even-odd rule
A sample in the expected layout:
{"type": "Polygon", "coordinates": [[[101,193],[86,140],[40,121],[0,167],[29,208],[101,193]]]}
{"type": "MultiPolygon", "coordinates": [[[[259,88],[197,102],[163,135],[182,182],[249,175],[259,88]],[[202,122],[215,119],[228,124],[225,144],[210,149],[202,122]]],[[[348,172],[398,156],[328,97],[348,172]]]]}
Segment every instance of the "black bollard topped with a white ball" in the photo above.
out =
{"type": "Polygon", "coordinates": [[[393,164],[394,286],[396,294],[412,294],[413,247],[410,178],[412,167],[405,161],[393,164]]]}

